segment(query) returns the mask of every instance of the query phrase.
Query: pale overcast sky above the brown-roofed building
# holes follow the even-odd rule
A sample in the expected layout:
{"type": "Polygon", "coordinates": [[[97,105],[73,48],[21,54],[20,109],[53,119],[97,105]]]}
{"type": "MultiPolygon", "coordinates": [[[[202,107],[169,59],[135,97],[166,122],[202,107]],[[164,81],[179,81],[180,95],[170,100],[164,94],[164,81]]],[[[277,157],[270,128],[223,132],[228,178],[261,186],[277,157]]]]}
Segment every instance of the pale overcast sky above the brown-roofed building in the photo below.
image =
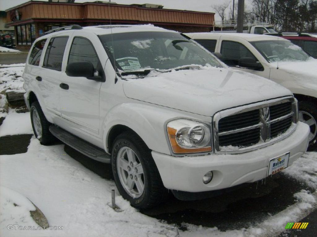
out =
{"type": "MultiPolygon", "coordinates": [[[[42,0],[40,0],[42,1],[42,0]]],[[[47,1],[47,0],[44,0],[47,1]]],[[[75,0],[75,3],[95,2],[96,0],[75,0]]],[[[106,0],[105,0],[106,1],[106,0]]],[[[250,0],[245,0],[245,4],[248,4],[250,0]]],[[[6,10],[16,5],[26,3],[28,0],[0,0],[0,10],[6,10]]],[[[232,0],[113,0],[112,2],[118,4],[143,4],[152,3],[163,5],[165,9],[179,9],[179,10],[191,10],[191,11],[205,11],[215,12],[212,8],[213,5],[230,2],[232,0]]],[[[238,2],[238,0],[236,0],[238,2]]],[[[219,21],[219,15],[215,15],[215,20],[219,21]]]]}

